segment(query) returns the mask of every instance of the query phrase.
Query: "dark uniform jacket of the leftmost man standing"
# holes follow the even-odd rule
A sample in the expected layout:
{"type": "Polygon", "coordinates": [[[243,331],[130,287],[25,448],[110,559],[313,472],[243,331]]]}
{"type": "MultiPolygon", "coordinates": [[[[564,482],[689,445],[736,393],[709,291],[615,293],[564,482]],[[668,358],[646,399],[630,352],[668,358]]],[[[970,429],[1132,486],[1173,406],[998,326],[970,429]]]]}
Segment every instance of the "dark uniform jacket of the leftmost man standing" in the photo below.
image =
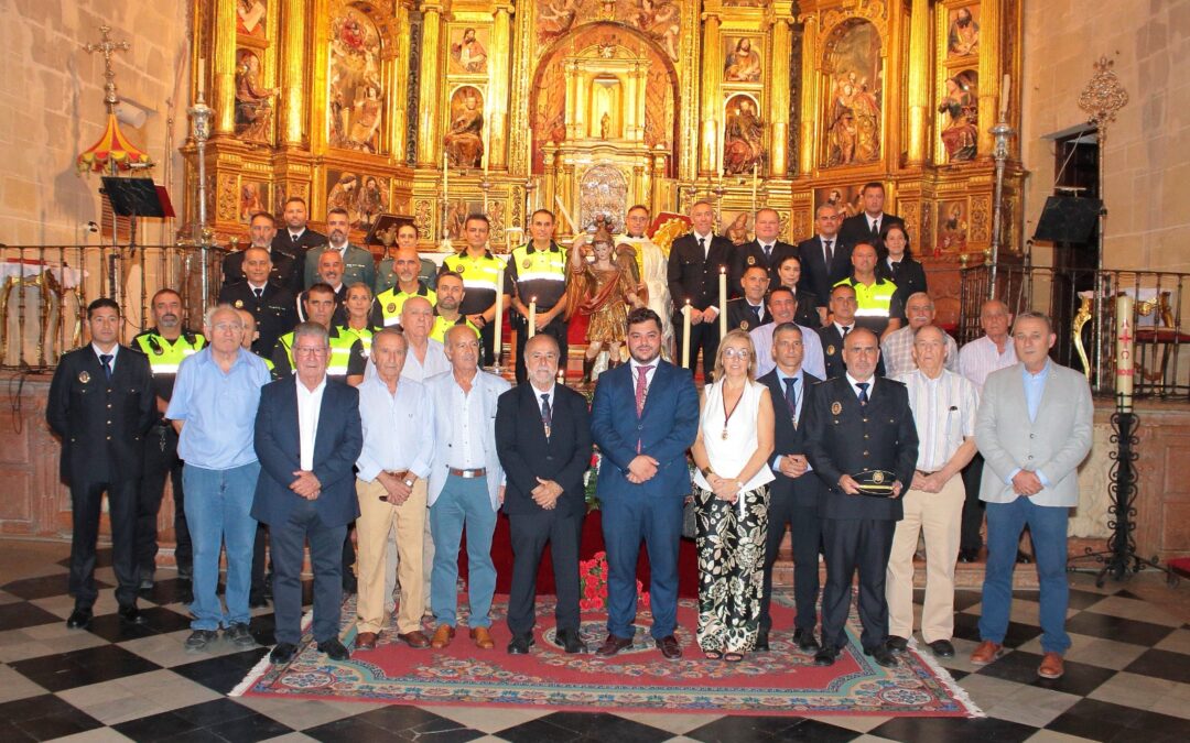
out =
{"type": "Polygon", "coordinates": [[[149,359],[139,351],[120,346],[111,383],[90,344],[63,355],[45,402],[50,430],[62,437],[62,479],[74,487],[139,479],[155,398],[149,359]]]}

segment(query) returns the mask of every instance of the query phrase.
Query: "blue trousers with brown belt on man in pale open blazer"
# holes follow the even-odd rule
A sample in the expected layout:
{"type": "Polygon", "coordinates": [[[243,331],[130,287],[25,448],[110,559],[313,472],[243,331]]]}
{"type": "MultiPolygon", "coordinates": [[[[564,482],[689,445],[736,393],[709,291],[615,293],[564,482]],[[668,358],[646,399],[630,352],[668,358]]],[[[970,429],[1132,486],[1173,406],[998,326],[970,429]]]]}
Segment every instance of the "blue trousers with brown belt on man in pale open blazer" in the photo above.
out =
{"type": "Polygon", "coordinates": [[[458,622],[458,544],[466,528],[466,590],[471,628],[490,626],[491,594],[496,592],[496,566],[491,563],[491,510],[487,478],[446,478],[441,493],[430,506],[434,537],[434,569],[430,577],[430,605],[438,624],[458,622]]]}

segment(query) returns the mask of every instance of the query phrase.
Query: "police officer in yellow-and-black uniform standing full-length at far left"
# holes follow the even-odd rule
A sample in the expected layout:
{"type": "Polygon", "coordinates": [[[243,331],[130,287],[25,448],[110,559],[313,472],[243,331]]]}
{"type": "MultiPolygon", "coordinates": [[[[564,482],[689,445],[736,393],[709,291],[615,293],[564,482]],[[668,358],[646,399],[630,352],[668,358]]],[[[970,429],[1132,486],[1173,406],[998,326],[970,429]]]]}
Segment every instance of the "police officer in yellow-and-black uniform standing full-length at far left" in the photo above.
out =
{"type": "Polygon", "coordinates": [[[182,297],[173,289],[162,289],[150,303],[156,327],[132,339],[132,347],[149,357],[154,393],[157,396],[152,428],[145,435],[144,474],[137,499],[137,565],[140,590],[154,586],[157,567],[157,514],[165,495],[165,477],[174,485],[174,560],[177,577],[190,579],[194,554],[190,533],[186,528],[186,496],[182,491],[182,460],[177,458],[177,433],[165,420],[165,408],[174,393],[174,377],[182,359],[207,345],[201,333],[182,326],[182,297]]]}

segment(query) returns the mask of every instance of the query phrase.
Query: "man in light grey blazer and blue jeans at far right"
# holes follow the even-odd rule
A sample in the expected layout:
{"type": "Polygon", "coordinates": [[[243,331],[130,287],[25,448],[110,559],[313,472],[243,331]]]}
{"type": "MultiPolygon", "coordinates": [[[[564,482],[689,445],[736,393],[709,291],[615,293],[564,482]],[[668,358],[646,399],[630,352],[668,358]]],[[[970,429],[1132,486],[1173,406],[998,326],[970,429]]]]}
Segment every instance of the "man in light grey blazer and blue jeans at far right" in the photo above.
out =
{"type": "Polygon", "coordinates": [[[1066,525],[1078,505],[1078,465],[1091,451],[1094,405],[1086,378],[1050,360],[1057,335],[1050,317],[1021,313],[1013,327],[1020,364],[988,376],[976,417],[976,443],[987,462],[979,499],[988,512],[988,566],[983,615],[971,662],[985,666],[1002,653],[1013,600],[1016,543],[1028,525],[1041,584],[1038,675],[1063,674],[1066,635],[1066,525]]]}

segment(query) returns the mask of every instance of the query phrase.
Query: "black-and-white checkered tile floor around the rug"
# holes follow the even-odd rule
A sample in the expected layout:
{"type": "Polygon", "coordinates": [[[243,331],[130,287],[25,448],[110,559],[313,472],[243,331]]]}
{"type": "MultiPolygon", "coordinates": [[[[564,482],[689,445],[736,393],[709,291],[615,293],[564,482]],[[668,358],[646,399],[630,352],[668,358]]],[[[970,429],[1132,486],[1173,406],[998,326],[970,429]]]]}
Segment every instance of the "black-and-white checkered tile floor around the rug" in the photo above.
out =
{"type": "MultiPolygon", "coordinates": [[[[68,630],[68,547],[0,542],[0,741],[1185,741],[1190,738],[1190,585],[1155,575],[1071,583],[1075,646],[1066,675],[1036,676],[1041,660],[1036,593],[1020,592],[1001,660],[976,669],[979,594],[958,594],[958,654],[946,665],[987,719],[879,717],[713,717],[574,713],[490,707],[230,699],[225,694],[267,653],[231,647],[189,655],[177,581],[158,573],[140,606],[149,623],[120,626],[109,590],[88,631],[68,630]]],[[[1026,566],[1023,569],[1031,569],[1026,566]]],[[[99,578],[112,584],[111,568],[99,578]]],[[[919,600],[920,600],[919,596],[919,600]]],[[[273,615],[252,632],[273,641],[273,615]]],[[[496,650],[500,651],[500,650],[496,650]]]]}

